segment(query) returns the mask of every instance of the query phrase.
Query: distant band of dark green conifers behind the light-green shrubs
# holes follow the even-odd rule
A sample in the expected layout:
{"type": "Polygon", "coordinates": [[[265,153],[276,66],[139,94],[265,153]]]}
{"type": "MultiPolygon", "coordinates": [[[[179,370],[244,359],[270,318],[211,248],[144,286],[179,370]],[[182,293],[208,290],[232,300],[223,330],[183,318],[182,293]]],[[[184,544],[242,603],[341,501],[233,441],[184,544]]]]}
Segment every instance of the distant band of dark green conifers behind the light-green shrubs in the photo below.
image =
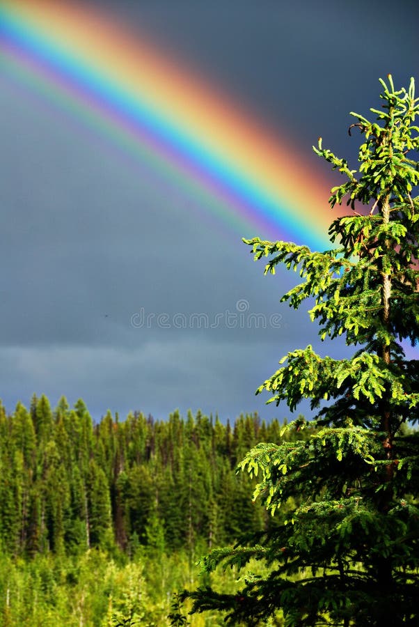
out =
{"type": "Polygon", "coordinates": [[[166,421],[108,412],[93,424],[81,400],[71,409],[63,397],[52,410],[33,396],[10,415],[0,405],[0,548],[193,554],[266,529],[274,519],[252,502],[254,480],[235,469],[258,442],[280,442],[280,431],[256,414],[230,426],[200,412],[166,421]]]}

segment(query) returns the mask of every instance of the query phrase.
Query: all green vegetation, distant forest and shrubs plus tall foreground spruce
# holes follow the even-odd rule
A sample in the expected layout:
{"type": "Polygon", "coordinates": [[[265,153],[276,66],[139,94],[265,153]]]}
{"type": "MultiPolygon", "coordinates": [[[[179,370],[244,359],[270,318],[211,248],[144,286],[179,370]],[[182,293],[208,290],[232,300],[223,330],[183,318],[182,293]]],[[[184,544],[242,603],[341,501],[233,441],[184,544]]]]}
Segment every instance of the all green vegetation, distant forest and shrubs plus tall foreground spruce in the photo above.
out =
{"type": "Polygon", "coordinates": [[[244,240],[265,274],[298,271],[281,300],[309,299],[322,341],[354,348],[296,348],[258,387],[315,415],[1,405],[1,625],[418,626],[419,98],[380,83],[377,121],[351,112],[358,172],[314,148],[345,177],[338,247],[244,240]]]}

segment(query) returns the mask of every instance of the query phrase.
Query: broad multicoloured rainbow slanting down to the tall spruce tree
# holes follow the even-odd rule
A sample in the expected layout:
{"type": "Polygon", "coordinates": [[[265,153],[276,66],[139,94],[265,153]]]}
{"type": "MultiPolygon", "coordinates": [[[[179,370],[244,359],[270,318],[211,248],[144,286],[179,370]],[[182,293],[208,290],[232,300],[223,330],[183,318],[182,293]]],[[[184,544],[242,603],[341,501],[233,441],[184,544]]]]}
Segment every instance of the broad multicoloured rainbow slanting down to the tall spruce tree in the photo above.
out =
{"type": "MultiPolygon", "coordinates": [[[[1,70],[245,237],[329,246],[331,187],[292,141],[102,10],[3,0],[1,70]]],[[[170,194],[168,194],[170,198],[170,194]]]]}

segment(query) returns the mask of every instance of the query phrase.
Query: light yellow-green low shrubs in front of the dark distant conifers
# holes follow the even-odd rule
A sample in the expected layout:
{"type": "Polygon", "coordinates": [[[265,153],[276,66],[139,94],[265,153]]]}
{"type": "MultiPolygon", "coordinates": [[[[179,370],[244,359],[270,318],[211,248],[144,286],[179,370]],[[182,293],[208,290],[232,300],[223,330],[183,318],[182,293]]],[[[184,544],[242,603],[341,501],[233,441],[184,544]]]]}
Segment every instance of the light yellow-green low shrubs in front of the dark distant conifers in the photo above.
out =
{"type": "MultiPolygon", "coordinates": [[[[137,555],[127,561],[122,555],[91,549],[78,556],[50,553],[31,560],[0,556],[0,624],[2,627],[168,627],[175,608],[176,588],[189,584],[188,557],[184,551],[159,558],[137,555]],[[164,586],[155,593],[150,573],[159,561],[166,564],[164,586]]],[[[199,568],[193,577],[202,584],[199,568]]],[[[235,588],[234,575],[221,573],[216,585],[235,588]]],[[[186,619],[177,606],[178,625],[205,627],[221,625],[214,614],[203,619],[186,619]],[[185,622],[186,621],[186,622],[185,622]]],[[[176,623],[175,623],[176,624],[176,623]]]]}

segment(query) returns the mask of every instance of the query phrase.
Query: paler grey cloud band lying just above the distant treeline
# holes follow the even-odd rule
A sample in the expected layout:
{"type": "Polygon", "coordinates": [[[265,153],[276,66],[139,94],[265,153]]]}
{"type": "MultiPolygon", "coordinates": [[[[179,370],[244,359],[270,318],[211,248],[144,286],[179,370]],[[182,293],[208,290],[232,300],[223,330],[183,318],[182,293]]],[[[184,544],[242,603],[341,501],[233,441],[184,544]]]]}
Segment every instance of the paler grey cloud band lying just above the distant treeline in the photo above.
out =
{"type": "Polygon", "coordinates": [[[95,418],[106,408],[159,418],[175,408],[184,413],[201,408],[234,418],[263,407],[254,398],[263,352],[260,343],[237,346],[191,337],[145,341],[135,348],[10,346],[2,351],[1,378],[6,405],[27,404],[36,392],[53,404],[62,394],[71,403],[81,397],[95,418]]]}

